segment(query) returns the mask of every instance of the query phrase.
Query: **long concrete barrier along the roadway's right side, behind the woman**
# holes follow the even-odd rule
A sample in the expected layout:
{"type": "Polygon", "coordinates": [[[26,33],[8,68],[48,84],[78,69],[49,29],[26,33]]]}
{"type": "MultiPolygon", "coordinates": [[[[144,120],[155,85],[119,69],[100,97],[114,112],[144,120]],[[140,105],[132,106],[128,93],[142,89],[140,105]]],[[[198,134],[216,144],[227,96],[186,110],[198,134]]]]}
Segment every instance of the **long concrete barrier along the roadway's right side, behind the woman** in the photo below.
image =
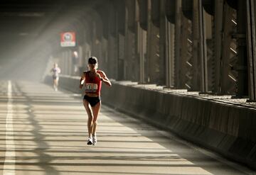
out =
{"type": "MultiPolygon", "coordinates": [[[[81,93],[78,77],[61,77],[60,86],[81,93]]],[[[102,103],[256,169],[255,108],[118,82],[102,86],[102,103]]]]}

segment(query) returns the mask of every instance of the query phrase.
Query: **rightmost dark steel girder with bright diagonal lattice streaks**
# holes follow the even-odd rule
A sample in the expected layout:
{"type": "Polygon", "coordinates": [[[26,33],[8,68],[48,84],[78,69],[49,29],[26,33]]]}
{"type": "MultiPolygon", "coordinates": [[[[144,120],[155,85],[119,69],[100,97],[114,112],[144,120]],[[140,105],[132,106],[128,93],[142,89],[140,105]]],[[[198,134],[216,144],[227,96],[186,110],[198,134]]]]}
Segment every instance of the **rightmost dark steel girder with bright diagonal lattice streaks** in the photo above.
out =
{"type": "MultiPolygon", "coordinates": [[[[221,6],[221,4],[219,4],[221,6]]],[[[216,72],[220,71],[219,77],[216,79],[215,87],[218,88],[220,94],[235,94],[237,92],[237,75],[234,69],[231,69],[230,58],[234,60],[237,57],[237,40],[233,38],[232,33],[236,33],[237,30],[237,12],[232,9],[228,4],[224,4],[223,14],[223,33],[221,32],[221,26],[217,28],[216,38],[218,43],[222,43],[221,48],[216,46],[216,72]],[[220,36],[221,35],[221,36],[220,36]],[[221,51],[221,52],[220,52],[221,51]],[[220,57],[220,60],[218,58],[220,57]],[[218,68],[220,65],[220,69],[218,68]],[[233,73],[232,73],[233,72],[233,73]],[[232,74],[232,75],[231,75],[232,74]],[[218,79],[219,78],[219,79],[218,79]],[[220,84],[218,85],[218,81],[220,84]]],[[[218,16],[216,20],[221,21],[221,16],[218,16]]]]}

